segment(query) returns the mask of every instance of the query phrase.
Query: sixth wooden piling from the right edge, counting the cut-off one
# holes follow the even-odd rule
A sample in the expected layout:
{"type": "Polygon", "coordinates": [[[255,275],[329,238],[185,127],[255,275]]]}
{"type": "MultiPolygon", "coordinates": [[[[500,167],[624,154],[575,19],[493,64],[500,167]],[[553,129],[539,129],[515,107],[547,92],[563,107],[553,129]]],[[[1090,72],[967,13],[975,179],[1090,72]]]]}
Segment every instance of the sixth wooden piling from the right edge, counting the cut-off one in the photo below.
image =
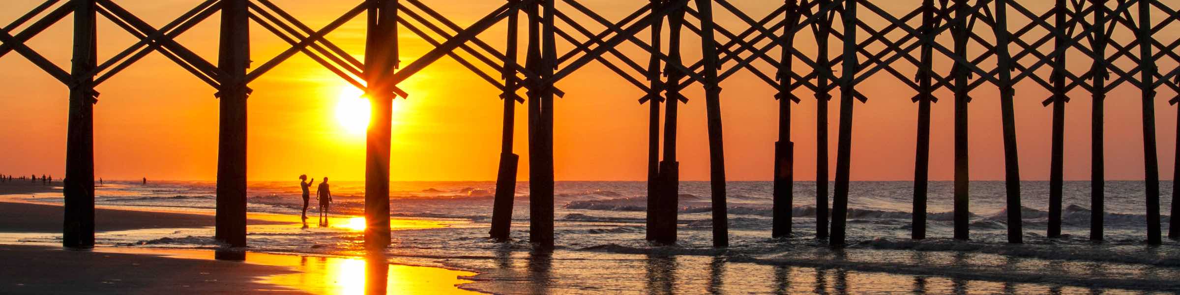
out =
{"type": "MultiPolygon", "coordinates": [[[[952,34],[955,37],[955,55],[962,59],[966,58],[966,42],[968,42],[968,2],[966,0],[955,0],[955,27],[952,28],[952,34]]],[[[955,238],[956,240],[968,240],[970,238],[970,230],[968,229],[970,223],[970,210],[968,208],[968,202],[970,199],[970,192],[968,191],[970,173],[969,173],[969,153],[968,153],[968,103],[970,97],[968,97],[968,65],[963,61],[956,61],[951,70],[955,77],[955,238]]]]}

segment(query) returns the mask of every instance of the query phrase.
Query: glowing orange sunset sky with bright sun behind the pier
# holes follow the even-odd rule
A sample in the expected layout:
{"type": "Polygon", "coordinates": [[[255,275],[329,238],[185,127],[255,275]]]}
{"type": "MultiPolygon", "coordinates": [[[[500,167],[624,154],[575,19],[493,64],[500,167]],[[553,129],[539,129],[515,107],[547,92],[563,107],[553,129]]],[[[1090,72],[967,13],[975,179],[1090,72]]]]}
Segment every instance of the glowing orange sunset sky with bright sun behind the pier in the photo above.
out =
{"type": "MultiPolygon", "coordinates": [[[[8,0],[0,4],[0,24],[19,17],[39,0],[8,0]]],[[[198,1],[120,0],[119,5],[139,14],[148,22],[162,26],[198,1]]],[[[319,28],[335,15],[360,1],[276,0],[278,6],[319,28]]],[[[425,1],[466,26],[492,11],[499,1],[425,1]]],[[[640,7],[640,1],[585,0],[609,19],[620,19],[640,7]],[[624,4],[624,5],[620,5],[624,4]]],[[[780,1],[734,1],[754,18],[769,13],[780,1]]],[[[894,13],[913,9],[919,1],[885,1],[881,6],[894,13]]],[[[1043,12],[1041,1],[1030,9],[1043,12]]],[[[576,14],[568,6],[563,12],[576,14]]],[[[717,21],[732,31],[741,31],[739,21],[716,8],[717,21]]],[[[1014,24],[1023,19],[1012,15],[1014,24]]],[[[585,18],[583,24],[589,22],[585,18]]],[[[878,21],[864,17],[866,21],[878,21]]],[[[28,45],[68,68],[72,18],[66,18],[28,45]]],[[[590,26],[601,30],[599,26],[590,26]]],[[[983,27],[982,25],[979,27],[983,27]]],[[[690,32],[686,30],[686,35],[690,32]]],[[[270,32],[251,27],[253,60],[258,66],[287,44],[270,32]]],[[[328,38],[361,59],[363,54],[363,17],[358,18],[328,38]]],[[[894,32],[898,38],[902,32],[894,32]]],[[[1043,34],[1038,32],[1037,34],[1043,34]]],[[[1129,34],[1116,31],[1116,40],[1127,44],[1129,34]]],[[[505,27],[496,26],[480,35],[503,48],[505,27]]],[[[647,32],[641,35],[649,35],[647,32]]],[[[860,32],[863,40],[866,33],[860,32]]],[[[1156,38],[1163,44],[1180,37],[1180,30],[1168,28],[1156,38]]],[[[431,47],[411,32],[401,31],[404,65],[431,47]]],[[[700,41],[686,37],[686,60],[700,58],[700,41]]],[[[940,37],[946,39],[949,35],[940,37]]],[[[645,39],[645,38],[644,38],[645,39]]],[[[99,58],[105,60],[136,40],[110,21],[99,20],[99,58]]],[[[806,31],[796,39],[801,51],[813,53],[814,44],[806,31]]],[[[210,61],[216,61],[217,15],[182,35],[178,41],[210,61]]],[[[833,55],[839,40],[832,39],[833,55]]],[[[569,51],[571,46],[559,46],[569,51]]],[[[871,48],[877,48],[872,47],[871,48]]],[[[1015,50],[1016,47],[1014,47],[1015,50]]],[[[641,65],[647,54],[634,45],[622,46],[641,65]]],[[[974,52],[979,48],[974,47],[974,52]]],[[[774,52],[778,52],[775,50],[774,52]]],[[[1138,51],[1136,51],[1138,52],[1138,51]]],[[[975,53],[972,53],[974,55],[975,53]]],[[[778,53],[773,54],[778,55],[778,53]]],[[[1071,71],[1089,66],[1076,54],[1069,55],[1071,71]]],[[[523,59],[522,59],[523,60],[523,59]]],[[[949,63],[936,58],[942,73],[949,63]]],[[[990,63],[990,61],[989,61],[990,63]]],[[[1031,59],[1023,60],[1025,65],[1031,59]]],[[[801,63],[796,63],[799,65],[801,63]]],[[[1128,64],[1120,64],[1129,68],[1128,64]]],[[[903,72],[912,68],[899,66],[903,72]]],[[[1171,71],[1175,63],[1160,63],[1171,71]]],[[[67,88],[17,53],[0,58],[0,173],[64,175],[67,88]]],[[[726,67],[728,68],[728,67],[726,67]]],[[[767,73],[773,73],[760,64],[767,73]]],[[[1043,77],[1048,77],[1048,71],[1043,77]]],[[[494,76],[494,74],[493,74],[494,76]]],[[[641,78],[642,79],[642,78],[641,78]]],[[[568,94],[557,101],[555,126],[556,173],[559,181],[641,181],[647,173],[647,105],[638,105],[640,90],[607,67],[591,64],[557,85],[568,94]]],[[[251,181],[295,179],[307,173],[334,179],[363,179],[363,135],[348,132],[336,118],[341,99],[354,99],[348,84],[321,68],[312,59],[296,55],[251,84],[249,100],[249,163],[251,181]]],[[[442,59],[401,84],[409,99],[394,103],[392,178],[394,181],[487,181],[494,179],[499,155],[502,103],[487,83],[466,72],[458,63],[442,59]]],[[[732,181],[771,179],[773,143],[776,136],[774,90],[749,73],[739,73],[722,83],[722,116],[726,135],[727,176],[732,181]]],[[[858,85],[870,97],[857,103],[853,130],[852,178],[857,181],[904,181],[913,173],[913,150],[917,105],[910,103],[913,91],[894,78],[879,72],[858,85]]],[[[96,106],[96,172],[106,179],[214,179],[217,159],[217,100],[214,88],[186,74],[158,53],[150,54],[116,78],[98,87],[96,106]]],[[[690,101],[681,109],[680,160],[681,179],[708,179],[708,143],[704,104],[700,86],[686,93],[690,101]]],[[[796,92],[801,104],[794,106],[796,179],[814,179],[815,100],[807,91],[796,92]]],[[[838,94],[833,92],[833,94],[838,94]]],[[[1089,177],[1090,98],[1083,91],[1070,93],[1066,119],[1066,178],[1089,177]]],[[[952,99],[940,90],[940,103],[933,105],[931,178],[950,179],[952,172],[952,99]]],[[[1049,96],[1032,81],[1017,86],[1016,123],[1020,142],[1021,175],[1024,179],[1047,179],[1049,171],[1050,109],[1041,100],[1049,96]]],[[[1167,100],[1175,93],[1160,90],[1156,99],[1156,126],[1160,172],[1171,179],[1175,149],[1176,110],[1167,100]]],[[[999,130],[999,101],[994,86],[972,92],[971,103],[971,177],[1002,179],[1003,149],[999,130]]],[[[1122,86],[1107,99],[1107,177],[1141,179],[1142,130],[1140,97],[1136,88],[1122,86]]],[[[522,179],[527,179],[527,140],[524,137],[524,107],[517,109],[516,152],[522,155],[522,179]]],[[[838,104],[831,104],[830,144],[835,155],[838,104]]],[[[831,159],[834,163],[834,157],[831,159]]]]}

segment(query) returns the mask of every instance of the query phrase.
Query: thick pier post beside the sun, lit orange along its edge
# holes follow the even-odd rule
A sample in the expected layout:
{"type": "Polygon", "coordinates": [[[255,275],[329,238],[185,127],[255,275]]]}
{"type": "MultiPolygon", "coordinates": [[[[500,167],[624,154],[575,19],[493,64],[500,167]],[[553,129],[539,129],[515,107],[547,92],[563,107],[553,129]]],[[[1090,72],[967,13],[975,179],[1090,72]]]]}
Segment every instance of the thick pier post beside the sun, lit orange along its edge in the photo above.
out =
{"type": "Polygon", "coordinates": [[[389,77],[399,67],[398,1],[369,0],[365,42],[366,96],[371,105],[365,133],[365,245],[389,245],[389,155],[393,124],[393,92],[389,77]]]}

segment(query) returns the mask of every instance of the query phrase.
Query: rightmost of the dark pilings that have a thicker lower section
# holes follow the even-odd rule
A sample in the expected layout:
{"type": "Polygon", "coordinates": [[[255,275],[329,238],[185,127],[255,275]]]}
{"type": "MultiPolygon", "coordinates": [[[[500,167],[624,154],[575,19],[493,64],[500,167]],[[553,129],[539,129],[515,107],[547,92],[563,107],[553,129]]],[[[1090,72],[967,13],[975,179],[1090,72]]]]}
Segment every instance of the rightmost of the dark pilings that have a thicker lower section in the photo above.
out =
{"type": "Polygon", "coordinates": [[[787,25],[782,27],[782,54],[779,60],[776,85],[779,99],[779,140],[774,143],[774,203],[772,237],[791,237],[792,218],[794,217],[794,151],[791,142],[791,104],[795,96],[791,93],[792,52],[795,44],[795,26],[799,24],[799,1],[786,0],[787,25]]]}

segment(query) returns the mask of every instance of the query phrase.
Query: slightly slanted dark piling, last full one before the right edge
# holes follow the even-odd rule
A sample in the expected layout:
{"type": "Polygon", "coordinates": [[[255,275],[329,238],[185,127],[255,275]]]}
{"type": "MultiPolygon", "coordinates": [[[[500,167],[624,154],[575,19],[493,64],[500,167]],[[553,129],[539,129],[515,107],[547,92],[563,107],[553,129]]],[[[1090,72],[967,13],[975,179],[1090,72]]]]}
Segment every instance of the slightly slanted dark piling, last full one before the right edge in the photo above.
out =
{"type": "Polygon", "coordinates": [[[1143,94],[1143,169],[1147,192],[1147,243],[1160,244],[1160,171],[1155,148],[1155,58],[1152,57],[1152,6],[1141,1],[1135,42],[1139,44],[1140,88],[1143,94]]]}

